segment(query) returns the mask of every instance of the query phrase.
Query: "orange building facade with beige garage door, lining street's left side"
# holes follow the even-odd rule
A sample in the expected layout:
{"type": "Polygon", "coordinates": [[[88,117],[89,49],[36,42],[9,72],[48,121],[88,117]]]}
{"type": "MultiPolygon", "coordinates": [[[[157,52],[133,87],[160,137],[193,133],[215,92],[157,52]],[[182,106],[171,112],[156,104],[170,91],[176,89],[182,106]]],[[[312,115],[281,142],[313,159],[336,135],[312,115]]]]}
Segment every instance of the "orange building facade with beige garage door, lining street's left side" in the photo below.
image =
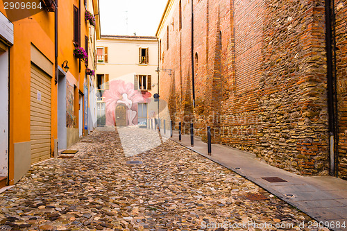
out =
{"type": "Polygon", "coordinates": [[[8,70],[1,76],[1,83],[8,83],[7,103],[0,108],[1,130],[8,139],[0,144],[0,176],[6,185],[15,184],[32,164],[57,156],[59,149],[84,134],[84,110],[89,106],[84,96],[94,80],[90,70],[96,69],[93,44],[100,35],[99,1],[34,2],[41,9],[15,11],[0,1],[0,28],[12,28],[0,30],[1,72],[8,70]],[[94,26],[85,19],[86,11],[96,15],[94,26]],[[88,59],[74,54],[78,46],[87,50],[88,59]]]}

